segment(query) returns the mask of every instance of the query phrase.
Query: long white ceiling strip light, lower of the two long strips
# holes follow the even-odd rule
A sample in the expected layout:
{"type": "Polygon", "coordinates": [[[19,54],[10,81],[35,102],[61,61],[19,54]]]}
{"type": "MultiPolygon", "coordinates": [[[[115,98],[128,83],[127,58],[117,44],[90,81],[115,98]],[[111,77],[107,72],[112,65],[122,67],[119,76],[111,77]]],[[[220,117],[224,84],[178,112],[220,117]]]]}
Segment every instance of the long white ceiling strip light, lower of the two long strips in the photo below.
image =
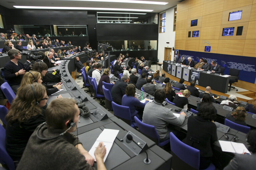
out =
{"type": "Polygon", "coordinates": [[[65,9],[65,10],[106,10],[106,11],[141,11],[152,12],[149,9],[123,9],[123,8],[89,8],[89,7],[41,7],[41,6],[13,6],[14,8],[22,9],[65,9]]]}

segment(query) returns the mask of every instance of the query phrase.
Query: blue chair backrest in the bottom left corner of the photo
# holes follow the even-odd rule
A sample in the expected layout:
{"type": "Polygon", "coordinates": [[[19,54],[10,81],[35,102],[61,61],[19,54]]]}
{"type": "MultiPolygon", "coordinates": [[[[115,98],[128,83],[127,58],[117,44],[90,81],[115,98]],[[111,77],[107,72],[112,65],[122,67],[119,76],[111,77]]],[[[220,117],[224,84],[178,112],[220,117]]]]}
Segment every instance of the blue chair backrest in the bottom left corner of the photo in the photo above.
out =
{"type": "Polygon", "coordinates": [[[7,165],[9,170],[15,170],[15,165],[12,158],[8,155],[5,149],[5,129],[0,124],[0,163],[2,165],[7,165]]]}

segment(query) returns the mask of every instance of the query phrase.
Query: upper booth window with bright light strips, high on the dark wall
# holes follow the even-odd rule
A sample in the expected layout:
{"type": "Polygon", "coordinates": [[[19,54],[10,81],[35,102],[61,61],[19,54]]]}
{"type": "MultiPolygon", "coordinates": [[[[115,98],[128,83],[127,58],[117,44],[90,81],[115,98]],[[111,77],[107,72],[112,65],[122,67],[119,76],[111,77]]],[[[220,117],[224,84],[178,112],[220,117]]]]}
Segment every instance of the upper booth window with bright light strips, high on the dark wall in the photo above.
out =
{"type": "Polygon", "coordinates": [[[158,13],[97,12],[97,23],[158,24],[158,13]]]}

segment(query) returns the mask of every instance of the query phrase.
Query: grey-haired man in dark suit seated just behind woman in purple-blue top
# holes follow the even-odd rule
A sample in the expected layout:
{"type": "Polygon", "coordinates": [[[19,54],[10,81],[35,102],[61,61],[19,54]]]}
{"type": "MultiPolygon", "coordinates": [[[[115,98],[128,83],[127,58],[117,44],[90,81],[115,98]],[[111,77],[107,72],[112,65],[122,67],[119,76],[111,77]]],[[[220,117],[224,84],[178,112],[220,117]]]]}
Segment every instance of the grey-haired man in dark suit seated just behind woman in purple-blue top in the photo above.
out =
{"type": "Polygon", "coordinates": [[[113,99],[113,102],[116,104],[122,104],[122,97],[125,94],[127,83],[129,83],[130,77],[128,75],[123,75],[123,77],[118,79],[113,85],[110,93],[113,99]]]}

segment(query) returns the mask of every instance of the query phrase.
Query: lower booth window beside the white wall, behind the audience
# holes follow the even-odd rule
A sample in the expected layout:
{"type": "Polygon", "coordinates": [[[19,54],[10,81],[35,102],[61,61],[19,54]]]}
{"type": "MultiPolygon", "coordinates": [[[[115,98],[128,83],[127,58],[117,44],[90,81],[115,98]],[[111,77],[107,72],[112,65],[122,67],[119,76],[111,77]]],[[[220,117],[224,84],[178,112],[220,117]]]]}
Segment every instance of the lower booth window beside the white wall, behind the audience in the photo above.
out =
{"type": "Polygon", "coordinates": [[[113,47],[113,51],[157,50],[157,40],[98,41],[113,47]]]}

